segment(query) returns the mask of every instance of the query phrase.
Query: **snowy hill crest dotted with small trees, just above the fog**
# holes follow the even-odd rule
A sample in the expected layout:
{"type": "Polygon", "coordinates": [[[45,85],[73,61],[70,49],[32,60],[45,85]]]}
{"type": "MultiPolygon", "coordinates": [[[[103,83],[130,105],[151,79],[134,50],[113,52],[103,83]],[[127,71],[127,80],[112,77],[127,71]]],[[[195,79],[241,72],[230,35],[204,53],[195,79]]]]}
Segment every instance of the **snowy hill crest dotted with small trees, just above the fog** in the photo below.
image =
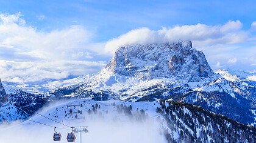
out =
{"type": "MultiPolygon", "coordinates": [[[[99,116],[104,117],[107,121],[112,121],[116,118],[115,115],[118,115],[118,113],[119,116],[117,119],[130,121],[128,115],[136,112],[137,108],[145,110],[148,115],[155,116],[159,115],[155,112],[157,107],[161,107],[158,102],[94,101],[91,99],[79,99],[51,106],[48,109],[44,109],[40,114],[54,119],[55,121],[64,122],[65,124],[87,121],[89,118],[97,119],[99,116]],[[130,111],[128,111],[128,109],[130,111]]],[[[40,115],[36,115],[30,119],[55,124],[55,122],[42,118],[40,115]]],[[[23,122],[23,124],[27,124],[28,122],[29,121],[23,122]]],[[[34,124],[32,122],[29,123],[34,124]]]]}

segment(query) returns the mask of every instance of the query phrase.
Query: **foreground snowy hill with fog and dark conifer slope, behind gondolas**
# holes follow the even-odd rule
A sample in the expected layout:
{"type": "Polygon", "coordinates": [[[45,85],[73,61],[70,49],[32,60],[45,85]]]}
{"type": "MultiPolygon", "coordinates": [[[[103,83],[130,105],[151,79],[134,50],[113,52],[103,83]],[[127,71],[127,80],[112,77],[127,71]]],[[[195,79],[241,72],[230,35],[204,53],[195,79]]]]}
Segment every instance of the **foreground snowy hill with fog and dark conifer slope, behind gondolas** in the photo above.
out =
{"type": "MultiPolygon", "coordinates": [[[[65,134],[71,131],[71,128],[65,125],[88,126],[91,137],[82,138],[83,142],[104,142],[104,140],[152,143],[254,142],[256,140],[255,127],[240,124],[225,116],[210,113],[201,107],[183,102],[80,99],[53,105],[41,111],[40,114],[62,123],[58,124],[40,115],[35,115],[30,118],[30,121],[21,123],[23,127],[37,127],[36,133],[44,131],[38,136],[44,142],[51,141],[52,135],[49,133],[54,133],[54,128],[40,125],[38,122],[60,127],[57,131],[62,133],[61,142],[66,142],[65,134]],[[43,129],[46,127],[47,131],[43,129]]],[[[34,134],[32,133],[32,136],[34,134]]],[[[86,136],[84,133],[82,135],[86,136]]],[[[78,137],[79,135],[77,135],[77,142],[78,137]]],[[[13,141],[15,140],[9,139],[9,142],[13,141]]]]}

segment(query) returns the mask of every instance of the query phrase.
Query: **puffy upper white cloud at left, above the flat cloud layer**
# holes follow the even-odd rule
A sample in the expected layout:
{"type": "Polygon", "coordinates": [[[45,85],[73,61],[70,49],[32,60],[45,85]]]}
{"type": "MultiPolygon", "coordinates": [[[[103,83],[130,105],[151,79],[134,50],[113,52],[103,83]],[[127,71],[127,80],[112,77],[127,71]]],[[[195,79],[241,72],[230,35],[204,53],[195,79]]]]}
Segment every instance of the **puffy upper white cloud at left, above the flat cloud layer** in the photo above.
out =
{"type": "Polygon", "coordinates": [[[43,59],[70,59],[70,54],[87,52],[92,34],[81,25],[71,25],[63,30],[38,32],[37,28],[23,25],[26,22],[15,15],[0,15],[0,45],[19,48],[20,54],[43,59]],[[21,24],[23,23],[23,24],[21,24]]]}

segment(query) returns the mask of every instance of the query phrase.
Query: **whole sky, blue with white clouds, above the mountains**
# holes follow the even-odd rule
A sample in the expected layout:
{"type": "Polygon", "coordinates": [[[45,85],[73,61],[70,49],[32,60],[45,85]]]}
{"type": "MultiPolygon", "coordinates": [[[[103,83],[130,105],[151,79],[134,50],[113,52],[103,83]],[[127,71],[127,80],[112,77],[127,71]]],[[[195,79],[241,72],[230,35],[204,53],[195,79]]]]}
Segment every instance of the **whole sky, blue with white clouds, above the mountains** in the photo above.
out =
{"type": "Polygon", "coordinates": [[[120,44],[144,44],[149,37],[191,39],[213,70],[255,71],[255,6],[256,1],[0,1],[0,78],[23,82],[95,73],[120,44]],[[140,33],[146,36],[140,39],[140,33]]]}

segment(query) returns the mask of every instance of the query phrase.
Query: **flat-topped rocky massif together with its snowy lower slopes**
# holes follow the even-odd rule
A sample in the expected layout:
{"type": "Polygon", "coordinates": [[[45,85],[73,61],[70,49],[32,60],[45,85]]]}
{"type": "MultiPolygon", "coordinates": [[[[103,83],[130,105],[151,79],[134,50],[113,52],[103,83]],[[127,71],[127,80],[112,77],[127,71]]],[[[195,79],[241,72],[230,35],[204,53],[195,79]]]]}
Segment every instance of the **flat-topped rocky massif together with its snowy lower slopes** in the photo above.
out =
{"type": "MultiPolygon", "coordinates": [[[[88,96],[96,93],[104,99],[144,101],[141,98],[149,95],[148,88],[160,90],[167,86],[168,90],[179,90],[177,94],[185,94],[219,77],[208,65],[204,53],[193,48],[191,41],[125,45],[118,48],[102,71],[88,78],[84,84],[55,89],[52,94],[88,96]]],[[[163,92],[164,97],[169,96],[168,91],[163,92]]]]}

